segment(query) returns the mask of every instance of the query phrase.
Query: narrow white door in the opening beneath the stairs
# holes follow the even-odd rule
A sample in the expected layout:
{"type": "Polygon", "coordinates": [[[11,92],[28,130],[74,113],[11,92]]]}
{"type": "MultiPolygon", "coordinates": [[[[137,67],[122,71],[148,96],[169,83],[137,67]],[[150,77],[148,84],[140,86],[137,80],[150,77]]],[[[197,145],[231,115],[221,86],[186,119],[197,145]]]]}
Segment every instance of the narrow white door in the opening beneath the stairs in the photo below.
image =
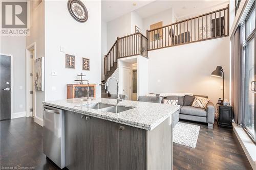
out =
{"type": "Polygon", "coordinates": [[[131,99],[131,68],[123,67],[123,89],[122,94],[131,99]]]}

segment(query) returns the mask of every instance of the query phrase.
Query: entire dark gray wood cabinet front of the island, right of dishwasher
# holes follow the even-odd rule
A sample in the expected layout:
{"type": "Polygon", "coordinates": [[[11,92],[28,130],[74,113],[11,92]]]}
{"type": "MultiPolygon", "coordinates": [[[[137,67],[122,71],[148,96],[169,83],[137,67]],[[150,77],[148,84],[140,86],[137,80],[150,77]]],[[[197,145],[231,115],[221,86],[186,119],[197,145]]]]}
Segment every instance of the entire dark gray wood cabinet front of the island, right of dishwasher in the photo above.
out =
{"type": "Polygon", "coordinates": [[[70,111],[65,116],[65,160],[70,170],[145,169],[145,130],[70,111]]]}

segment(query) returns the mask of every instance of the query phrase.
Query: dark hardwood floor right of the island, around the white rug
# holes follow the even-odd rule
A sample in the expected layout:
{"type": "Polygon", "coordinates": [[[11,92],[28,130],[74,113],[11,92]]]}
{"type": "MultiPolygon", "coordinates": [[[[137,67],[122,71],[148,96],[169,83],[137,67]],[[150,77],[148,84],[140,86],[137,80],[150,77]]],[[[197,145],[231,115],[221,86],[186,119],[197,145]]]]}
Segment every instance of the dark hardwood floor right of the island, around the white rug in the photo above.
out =
{"type": "Polygon", "coordinates": [[[173,144],[173,169],[252,169],[232,129],[200,126],[196,148],[173,144]]]}

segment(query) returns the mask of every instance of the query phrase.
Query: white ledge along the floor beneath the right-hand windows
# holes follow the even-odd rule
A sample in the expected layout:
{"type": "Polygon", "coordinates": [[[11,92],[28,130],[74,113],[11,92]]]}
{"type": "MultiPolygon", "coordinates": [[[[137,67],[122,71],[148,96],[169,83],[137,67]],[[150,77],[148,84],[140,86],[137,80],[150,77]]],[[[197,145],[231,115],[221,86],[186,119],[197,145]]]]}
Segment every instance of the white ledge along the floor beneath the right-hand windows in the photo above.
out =
{"type": "Polygon", "coordinates": [[[236,134],[244,153],[249,160],[253,170],[256,170],[256,145],[252,142],[243,128],[232,123],[234,134],[236,134]]]}

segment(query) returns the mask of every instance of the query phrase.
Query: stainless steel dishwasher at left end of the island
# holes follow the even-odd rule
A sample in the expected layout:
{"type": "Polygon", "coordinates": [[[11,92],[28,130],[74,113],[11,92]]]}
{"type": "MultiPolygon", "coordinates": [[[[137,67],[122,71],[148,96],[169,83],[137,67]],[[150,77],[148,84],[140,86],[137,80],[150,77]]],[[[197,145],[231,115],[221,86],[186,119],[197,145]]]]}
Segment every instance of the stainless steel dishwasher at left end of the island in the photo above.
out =
{"type": "Polygon", "coordinates": [[[46,106],[44,111],[44,154],[60,168],[65,167],[65,113],[46,106]]]}

